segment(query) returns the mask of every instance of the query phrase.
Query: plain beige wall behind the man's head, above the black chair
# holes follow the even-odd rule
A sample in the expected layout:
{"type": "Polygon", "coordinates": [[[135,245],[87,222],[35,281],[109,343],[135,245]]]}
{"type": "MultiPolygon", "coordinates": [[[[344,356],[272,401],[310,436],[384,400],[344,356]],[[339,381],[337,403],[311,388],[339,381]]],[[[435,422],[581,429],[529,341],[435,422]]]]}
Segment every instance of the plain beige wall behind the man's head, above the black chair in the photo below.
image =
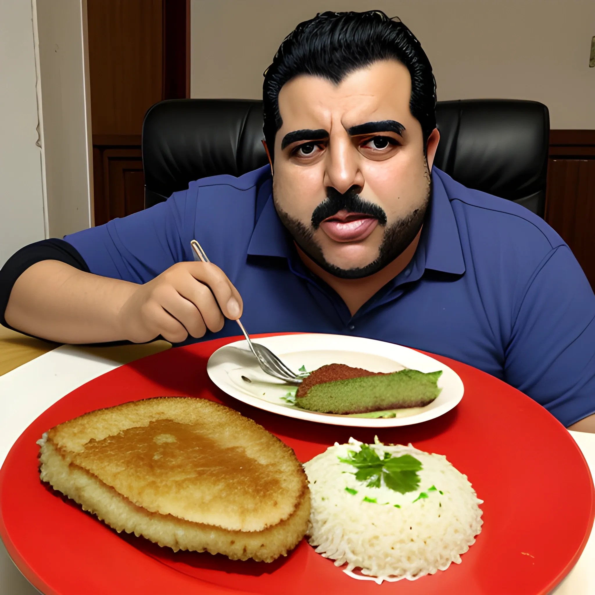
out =
{"type": "Polygon", "coordinates": [[[191,0],[191,95],[261,98],[297,23],[324,10],[398,15],[432,62],[438,99],[534,99],[552,128],[595,129],[595,0],[191,0]]]}

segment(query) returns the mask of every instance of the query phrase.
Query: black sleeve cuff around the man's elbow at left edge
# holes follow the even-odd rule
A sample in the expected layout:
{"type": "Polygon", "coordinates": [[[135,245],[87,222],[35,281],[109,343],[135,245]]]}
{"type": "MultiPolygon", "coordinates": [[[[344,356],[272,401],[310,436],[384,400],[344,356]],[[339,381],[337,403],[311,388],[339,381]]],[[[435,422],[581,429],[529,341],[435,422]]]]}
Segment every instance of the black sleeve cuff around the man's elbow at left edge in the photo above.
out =
{"type": "Polygon", "coordinates": [[[35,244],[29,244],[29,246],[21,248],[8,259],[2,270],[0,270],[0,324],[2,326],[12,328],[7,324],[4,313],[10,298],[10,292],[17,279],[30,266],[44,260],[57,260],[85,273],[90,273],[87,263],[84,262],[79,252],[68,242],[64,242],[64,240],[57,237],[35,242],[35,244]]]}

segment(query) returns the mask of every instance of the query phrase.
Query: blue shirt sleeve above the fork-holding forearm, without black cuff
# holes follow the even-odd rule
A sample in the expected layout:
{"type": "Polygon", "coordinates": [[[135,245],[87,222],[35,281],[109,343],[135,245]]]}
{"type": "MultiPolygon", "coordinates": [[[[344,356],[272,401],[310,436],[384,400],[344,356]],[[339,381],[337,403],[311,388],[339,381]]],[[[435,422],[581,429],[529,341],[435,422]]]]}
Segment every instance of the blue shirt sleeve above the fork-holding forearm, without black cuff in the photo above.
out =
{"type": "Polygon", "coordinates": [[[146,283],[171,265],[191,260],[196,189],[107,224],[65,236],[89,271],[103,277],[146,283]]]}

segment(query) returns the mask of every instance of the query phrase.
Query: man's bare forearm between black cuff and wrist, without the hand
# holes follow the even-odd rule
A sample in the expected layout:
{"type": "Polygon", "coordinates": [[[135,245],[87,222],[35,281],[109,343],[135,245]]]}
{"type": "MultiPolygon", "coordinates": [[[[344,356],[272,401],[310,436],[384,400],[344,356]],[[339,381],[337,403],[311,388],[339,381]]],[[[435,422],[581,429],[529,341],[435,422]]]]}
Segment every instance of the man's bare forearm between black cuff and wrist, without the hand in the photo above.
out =
{"type": "Polygon", "coordinates": [[[126,339],[118,313],[139,286],[42,261],[17,279],[4,314],[11,327],[60,343],[126,339]]]}

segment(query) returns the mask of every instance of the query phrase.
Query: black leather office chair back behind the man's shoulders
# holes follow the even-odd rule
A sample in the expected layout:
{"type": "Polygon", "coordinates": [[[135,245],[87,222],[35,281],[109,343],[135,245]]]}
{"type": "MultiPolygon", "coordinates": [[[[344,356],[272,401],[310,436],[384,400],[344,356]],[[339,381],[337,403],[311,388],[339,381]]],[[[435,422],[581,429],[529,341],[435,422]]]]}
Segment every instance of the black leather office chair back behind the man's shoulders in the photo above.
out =
{"type": "MultiPolygon", "coordinates": [[[[543,217],[549,112],[536,101],[439,101],[440,143],[434,164],[469,188],[526,206],[543,217]]],[[[192,180],[241,176],[267,164],[262,102],[170,99],[143,123],[145,207],[192,180]]]]}

